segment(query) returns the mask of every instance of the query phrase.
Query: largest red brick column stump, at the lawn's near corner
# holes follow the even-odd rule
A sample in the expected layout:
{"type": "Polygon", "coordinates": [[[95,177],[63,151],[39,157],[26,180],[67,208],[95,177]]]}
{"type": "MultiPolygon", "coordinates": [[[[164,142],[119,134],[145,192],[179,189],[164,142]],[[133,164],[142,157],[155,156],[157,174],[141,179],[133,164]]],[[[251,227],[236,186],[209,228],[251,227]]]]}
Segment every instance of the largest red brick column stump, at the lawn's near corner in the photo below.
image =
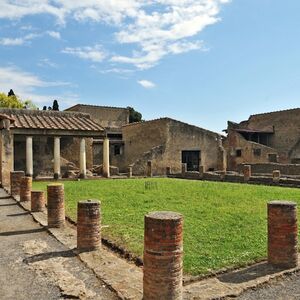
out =
{"type": "Polygon", "coordinates": [[[144,300],[182,299],[183,217],[174,212],[145,216],[144,300]]]}

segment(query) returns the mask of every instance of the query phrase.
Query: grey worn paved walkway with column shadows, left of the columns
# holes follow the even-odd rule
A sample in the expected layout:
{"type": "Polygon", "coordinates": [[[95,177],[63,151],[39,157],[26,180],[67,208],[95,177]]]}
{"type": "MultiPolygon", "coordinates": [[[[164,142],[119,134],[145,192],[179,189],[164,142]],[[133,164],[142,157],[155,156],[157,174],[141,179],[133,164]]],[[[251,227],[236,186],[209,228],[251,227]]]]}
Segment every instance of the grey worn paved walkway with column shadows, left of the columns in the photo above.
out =
{"type": "Polygon", "coordinates": [[[0,299],[117,299],[73,252],[0,190],[0,299]]]}

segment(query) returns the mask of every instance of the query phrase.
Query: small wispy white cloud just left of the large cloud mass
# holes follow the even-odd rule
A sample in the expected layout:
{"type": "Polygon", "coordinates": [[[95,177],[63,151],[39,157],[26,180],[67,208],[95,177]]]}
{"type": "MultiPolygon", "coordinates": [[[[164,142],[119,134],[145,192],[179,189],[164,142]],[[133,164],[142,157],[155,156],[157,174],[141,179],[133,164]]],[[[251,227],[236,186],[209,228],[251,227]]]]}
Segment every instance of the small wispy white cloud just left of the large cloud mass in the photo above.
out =
{"type": "Polygon", "coordinates": [[[101,45],[95,45],[93,47],[67,47],[62,50],[62,52],[93,62],[102,62],[106,57],[106,54],[101,45]]]}

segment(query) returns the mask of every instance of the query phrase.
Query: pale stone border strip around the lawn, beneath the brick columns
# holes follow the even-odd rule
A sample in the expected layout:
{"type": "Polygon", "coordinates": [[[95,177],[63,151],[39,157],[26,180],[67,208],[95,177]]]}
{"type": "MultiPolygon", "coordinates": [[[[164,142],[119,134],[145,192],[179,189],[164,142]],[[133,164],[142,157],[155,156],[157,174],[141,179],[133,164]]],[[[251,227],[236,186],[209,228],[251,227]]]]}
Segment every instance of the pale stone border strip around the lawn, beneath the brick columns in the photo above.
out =
{"type": "MultiPolygon", "coordinates": [[[[0,194],[1,197],[1,194],[0,194]]],[[[26,210],[30,204],[22,202],[26,210]]],[[[45,213],[32,213],[34,219],[47,225],[45,213]]],[[[70,249],[76,248],[76,227],[66,224],[63,229],[49,231],[70,249]]],[[[115,253],[102,248],[99,251],[79,254],[80,259],[89,266],[99,278],[115,290],[121,299],[142,299],[142,269],[118,257],[115,253]]],[[[299,260],[300,264],[300,260],[299,260]]],[[[244,291],[300,270],[300,267],[279,270],[266,262],[216,275],[187,284],[183,288],[183,299],[223,299],[239,296],[244,291]]]]}

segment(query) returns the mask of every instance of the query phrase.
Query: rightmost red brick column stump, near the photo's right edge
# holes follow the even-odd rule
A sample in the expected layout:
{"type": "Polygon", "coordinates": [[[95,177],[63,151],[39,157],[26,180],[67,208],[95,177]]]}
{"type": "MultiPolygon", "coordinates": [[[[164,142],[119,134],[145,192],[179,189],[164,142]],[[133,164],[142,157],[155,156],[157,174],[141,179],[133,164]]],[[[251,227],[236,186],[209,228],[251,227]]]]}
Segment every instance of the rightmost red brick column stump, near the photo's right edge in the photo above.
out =
{"type": "Polygon", "coordinates": [[[268,203],[268,262],[294,268],[298,264],[297,207],[288,201],[268,203]]]}

